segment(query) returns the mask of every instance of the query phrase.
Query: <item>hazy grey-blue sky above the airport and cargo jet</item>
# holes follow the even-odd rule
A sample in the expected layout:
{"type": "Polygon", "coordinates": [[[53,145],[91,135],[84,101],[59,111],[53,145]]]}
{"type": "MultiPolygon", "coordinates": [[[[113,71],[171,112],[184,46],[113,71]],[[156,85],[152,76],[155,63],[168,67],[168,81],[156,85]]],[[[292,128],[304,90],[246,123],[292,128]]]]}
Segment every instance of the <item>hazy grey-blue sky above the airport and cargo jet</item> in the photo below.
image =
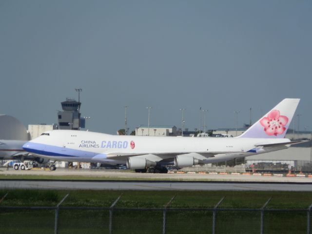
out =
{"type": "Polygon", "coordinates": [[[57,122],[78,99],[91,131],[147,124],[207,128],[256,121],[301,98],[312,131],[310,0],[0,0],[0,113],[57,122]]]}

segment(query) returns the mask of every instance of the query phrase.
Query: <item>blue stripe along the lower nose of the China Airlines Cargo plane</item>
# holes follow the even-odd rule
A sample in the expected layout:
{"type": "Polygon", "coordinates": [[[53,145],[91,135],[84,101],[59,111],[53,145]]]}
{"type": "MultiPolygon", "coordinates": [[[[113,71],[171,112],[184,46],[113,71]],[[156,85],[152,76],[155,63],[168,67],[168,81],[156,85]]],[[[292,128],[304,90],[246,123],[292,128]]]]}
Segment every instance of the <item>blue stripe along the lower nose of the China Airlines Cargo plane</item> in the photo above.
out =
{"type": "Polygon", "coordinates": [[[44,156],[66,156],[66,157],[92,158],[94,156],[100,155],[102,156],[102,158],[106,158],[106,155],[104,154],[75,150],[75,149],[70,149],[66,147],[39,144],[39,143],[34,143],[34,142],[25,143],[23,145],[23,149],[27,152],[34,153],[37,155],[44,155],[44,156]]]}

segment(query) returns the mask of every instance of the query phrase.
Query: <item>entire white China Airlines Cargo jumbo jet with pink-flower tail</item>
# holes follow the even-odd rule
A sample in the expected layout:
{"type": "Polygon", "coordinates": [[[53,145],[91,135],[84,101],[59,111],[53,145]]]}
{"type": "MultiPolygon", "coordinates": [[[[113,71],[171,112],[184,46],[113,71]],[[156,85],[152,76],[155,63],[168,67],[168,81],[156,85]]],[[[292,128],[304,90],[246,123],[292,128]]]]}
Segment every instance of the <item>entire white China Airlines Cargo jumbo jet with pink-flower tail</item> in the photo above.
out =
{"type": "Polygon", "coordinates": [[[301,141],[284,138],[300,99],[286,98],[238,137],[113,136],[52,130],[25,143],[23,149],[55,161],[127,164],[136,172],[167,172],[282,149],[301,141]]]}

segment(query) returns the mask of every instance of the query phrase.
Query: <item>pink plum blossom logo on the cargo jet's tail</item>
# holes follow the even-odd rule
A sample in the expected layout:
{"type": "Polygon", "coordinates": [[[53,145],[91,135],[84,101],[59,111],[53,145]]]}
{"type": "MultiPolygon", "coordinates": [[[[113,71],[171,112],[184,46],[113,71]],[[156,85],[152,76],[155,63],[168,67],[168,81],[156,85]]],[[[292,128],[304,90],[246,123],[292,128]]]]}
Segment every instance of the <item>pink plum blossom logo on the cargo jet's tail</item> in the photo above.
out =
{"type": "Polygon", "coordinates": [[[288,117],[281,116],[278,110],[272,110],[268,117],[260,120],[264,131],[269,136],[277,136],[283,134],[286,130],[285,125],[288,123],[288,117]]]}

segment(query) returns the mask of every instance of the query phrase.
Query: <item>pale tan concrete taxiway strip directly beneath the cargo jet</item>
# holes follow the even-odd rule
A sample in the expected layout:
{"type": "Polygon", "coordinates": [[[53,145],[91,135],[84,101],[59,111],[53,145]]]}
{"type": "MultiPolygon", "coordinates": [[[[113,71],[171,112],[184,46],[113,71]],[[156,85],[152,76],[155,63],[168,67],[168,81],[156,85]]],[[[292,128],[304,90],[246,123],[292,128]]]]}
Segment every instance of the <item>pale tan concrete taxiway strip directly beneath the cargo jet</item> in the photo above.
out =
{"type": "MultiPolygon", "coordinates": [[[[97,169],[62,169],[56,171],[50,170],[30,170],[21,171],[10,168],[0,170],[0,175],[32,175],[38,176],[83,176],[101,179],[119,179],[119,180],[170,180],[170,181],[237,181],[237,182],[296,182],[296,183],[312,183],[312,177],[285,177],[285,176],[244,176],[244,175],[209,175],[209,174],[149,174],[134,173],[128,170],[97,170],[97,169]]],[[[2,177],[3,178],[3,177],[2,177]]],[[[18,177],[17,177],[18,179],[18,177]]]]}

